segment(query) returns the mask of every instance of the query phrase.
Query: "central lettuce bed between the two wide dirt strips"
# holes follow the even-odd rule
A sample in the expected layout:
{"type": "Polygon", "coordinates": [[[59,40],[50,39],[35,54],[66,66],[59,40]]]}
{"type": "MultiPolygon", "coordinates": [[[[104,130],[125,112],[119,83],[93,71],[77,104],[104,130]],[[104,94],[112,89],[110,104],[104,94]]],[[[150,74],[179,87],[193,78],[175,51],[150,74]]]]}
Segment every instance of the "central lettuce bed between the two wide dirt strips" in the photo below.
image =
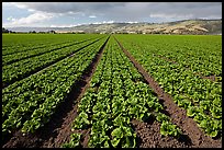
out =
{"type": "MultiPolygon", "coordinates": [[[[91,128],[90,148],[134,148],[136,134],[133,119],[160,123],[160,134],[179,137],[181,130],[163,114],[164,106],[142,74],[123,54],[114,38],[109,39],[102,58],[78,104],[78,117],[72,129],[91,128]]],[[[71,134],[71,140],[61,147],[79,147],[82,135],[71,134]]]]}

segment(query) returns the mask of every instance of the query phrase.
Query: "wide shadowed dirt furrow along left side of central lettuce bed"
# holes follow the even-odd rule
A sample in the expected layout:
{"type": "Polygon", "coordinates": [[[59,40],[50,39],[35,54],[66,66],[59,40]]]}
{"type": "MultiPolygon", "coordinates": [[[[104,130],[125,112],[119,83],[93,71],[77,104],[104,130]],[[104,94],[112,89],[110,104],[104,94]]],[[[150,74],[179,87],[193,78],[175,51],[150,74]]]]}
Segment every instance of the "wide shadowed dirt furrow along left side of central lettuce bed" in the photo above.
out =
{"type": "MultiPolygon", "coordinates": [[[[109,38],[110,36],[101,46],[92,62],[83,71],[85,73],[81,80],[74,84],[67,100],[60,104],[52,116],[51,122],[36,130],[35,134],[23,136],[20,130],[16,131],[3,148],[59,148],[61,143],[70,140],[70,135],[72,134],[71,124],[78,115],[78,102],[89,86],[89,81],[102,57],[103,49],[109,38]]],[[[82,130],[80,132],[88,134],[88,130],[82,130]]],[[[85,139],[83,145],[87,146],[87,139],[85,139]]]]}

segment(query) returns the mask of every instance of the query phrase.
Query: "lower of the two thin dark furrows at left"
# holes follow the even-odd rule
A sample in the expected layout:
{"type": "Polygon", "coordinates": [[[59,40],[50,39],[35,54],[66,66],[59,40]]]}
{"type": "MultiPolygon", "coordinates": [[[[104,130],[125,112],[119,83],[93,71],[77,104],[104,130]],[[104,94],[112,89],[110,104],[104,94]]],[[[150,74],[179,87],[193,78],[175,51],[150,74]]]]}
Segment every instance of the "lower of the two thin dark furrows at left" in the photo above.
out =
{"type": "MultiPolygon", "coordinates": [[[[102,37],[102,38],[103,38],[103,37],[102,37]]],[[[98,41],[100,41],[100,39],[102,39],[102,38],[98,38],[98,39],[93,41],[92,43],[90,43],[90,44],[88,44],[88,45],[85,45],[85,46],[82,46],[82,47],[76,49],[74,53],[68,54],[68,55],[66,55],[66,56],[64,56],[64,57],[60,57],[60,58],[58,58],[58,59],[56,59],[56,60],[54,60],[54,61],[52,61],[52,62],[45,64],[44,66],[38,67],[38,68],[36,68],[35,70],[33,70],[33,71],[31,71],[31,72],[26,72],[25,74],[21,74],[21,76],[19,76],[19,79],[16,79],[16,80],[12,80],[12,81],[9,82],[9,83],[2,82],[2,89],[9,86],[10,84],[13,84],[13,83],[16,82],[16,81],[20,81],[20,80],[23,80],[23,79],[25,79],[25,78],[29,78],[29,77],[32,76],[32,74],[38,73],[38,72],[41,72],[42,70],[49,68],[51,66],[55,65],[56,62],[58,62],[58,61],[60,61],[60,60],[63,60],[63,59],[66,59],[66,58],[68,58],[68,57],[74,56],[74,55],[75,55],[76,53],[78,53],[79,50],[81,50],[81,49],[83,49],[83,48],[86,48],[86,47],[88,47],[88,46],[90,46],[90,45],[97,43],[98,41]]],[[[72,45],[76,45],[76,44],[72,44],[72,45]]],[[[65,47],[70,47],[70,46],[72,46],[72,45],[64,46],[63,48],[65,48],[65,47]]],[[[58,49],[61,49],[61,48],[58,48],[58,49]]]]}

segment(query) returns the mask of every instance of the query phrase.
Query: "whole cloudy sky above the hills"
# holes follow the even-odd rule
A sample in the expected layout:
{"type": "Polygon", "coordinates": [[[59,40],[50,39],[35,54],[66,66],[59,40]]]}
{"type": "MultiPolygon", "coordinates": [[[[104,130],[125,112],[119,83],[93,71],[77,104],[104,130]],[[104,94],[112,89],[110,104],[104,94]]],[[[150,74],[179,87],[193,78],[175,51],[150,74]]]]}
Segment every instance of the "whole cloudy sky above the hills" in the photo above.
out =
{"type": "Polygon", "coordinates": [[[222,2],[2,2],[2,27],[222,19],[222,2]]]}

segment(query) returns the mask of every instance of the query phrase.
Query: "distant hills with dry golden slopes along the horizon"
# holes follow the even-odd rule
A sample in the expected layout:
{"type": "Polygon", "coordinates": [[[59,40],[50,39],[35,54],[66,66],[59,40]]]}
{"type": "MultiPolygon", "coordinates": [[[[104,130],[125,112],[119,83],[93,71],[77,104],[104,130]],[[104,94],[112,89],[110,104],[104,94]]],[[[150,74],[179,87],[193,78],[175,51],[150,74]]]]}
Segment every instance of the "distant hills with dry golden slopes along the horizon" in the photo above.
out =
{"type": "Polygon", "coordinates": [[[139,33],[139,34],[222,34],[220,20],[183,20],[167,23],[103,23],[74,27],[9,27],[15,32],[85,32],[85,33],[139,33]]]}

